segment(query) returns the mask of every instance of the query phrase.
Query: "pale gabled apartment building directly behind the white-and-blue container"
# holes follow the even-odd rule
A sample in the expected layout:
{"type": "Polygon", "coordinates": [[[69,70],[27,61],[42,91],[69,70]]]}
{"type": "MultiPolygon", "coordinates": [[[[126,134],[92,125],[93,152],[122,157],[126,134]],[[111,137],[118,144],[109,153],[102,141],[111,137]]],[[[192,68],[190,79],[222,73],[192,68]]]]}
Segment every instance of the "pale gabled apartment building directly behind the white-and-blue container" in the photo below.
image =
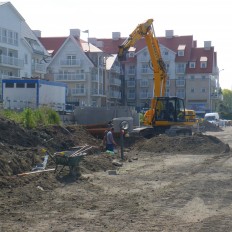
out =
{"type": "Polygon", "coordinates": [[[68,37],[41,37],[51,54],[47,78],[67,84],[67,103],[78,106],[121,105],[120,64],[115,54],[95,46],[95,39],[82,40],[80,29],[68,37]]]}

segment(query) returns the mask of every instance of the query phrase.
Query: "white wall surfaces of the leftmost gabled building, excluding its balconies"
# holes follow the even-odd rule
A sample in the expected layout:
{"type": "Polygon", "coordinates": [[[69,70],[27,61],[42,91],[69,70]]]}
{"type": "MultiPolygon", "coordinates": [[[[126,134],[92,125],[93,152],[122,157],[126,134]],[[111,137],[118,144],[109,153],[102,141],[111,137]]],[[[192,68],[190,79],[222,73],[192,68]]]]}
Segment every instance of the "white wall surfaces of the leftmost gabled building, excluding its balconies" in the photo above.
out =
{"type": "MultiPolygon", "coordinates": [[[[32,77],[32,76],[40,76],[43,78],[44,71],[39,71],[39,73],[34,73],[32,69],[32,59],[38,57],[38,61],[42,61],[44,55],[48,56],[46,49],[41,45],[38,38],[35,36],[33,31],[30,29],[30,27],[25,22],[24,18],[20,15],[20,13],[14,8],[14,6],[10,2],[0,3],[0,27],[7,29],[8,32],[12,31],[13,33],[18,33],[18,44],[10,44],[6,42],[0,41],[0,47],[3,47],[3,49],[7,49],[8,54],[4,54],[6,56],[9,56],[9,51],[17,51],[17,57],[19,60],[23,61],[23,66],[18,66],[17,71],[16,68],[1,67],[0,68],[0,74],[6,73],[11,76],[10,71],[13,72],[13,78],[14,77],[32,77]],[[37,41],[38,46],[41,49],[41,54],[34,53],[33,49],[30,47],[29,44],[27,44],[25,38],[30,38],[34,41],[37,41]],[[25,59],[25,57],[27,59],[25,59]],[[15,74],[15,72],[17,74],[15,74]]],[[[39,62],[40,63],[40,62],[39,62]]],[[[42,62],[44,63],[44,62],[42,62]]],[[[44,70],[46,70],[46,64],[44,63],[44,70]]],[[[38,71],[37,71],[38,72],[38,71]]]]}

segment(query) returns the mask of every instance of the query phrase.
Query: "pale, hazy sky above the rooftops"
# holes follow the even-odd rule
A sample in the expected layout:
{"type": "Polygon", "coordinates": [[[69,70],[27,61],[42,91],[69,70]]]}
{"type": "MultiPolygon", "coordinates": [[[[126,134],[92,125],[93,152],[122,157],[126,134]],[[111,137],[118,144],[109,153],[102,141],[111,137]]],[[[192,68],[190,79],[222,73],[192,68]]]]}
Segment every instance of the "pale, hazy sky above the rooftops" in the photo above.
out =
{"type": "MultiPolygon", "coordinates": [[[[0,0],[4,1],[4,0],[0,0]]],[[[128,37],[135,27],[154,20],[157,37],[165,30],[192,35],[198,47],[211,41],[217,52],[222,89],[232,89],[232,13],[229,0],[11,0],[32,30],[42,37],[68,36],[69,30],[89,30],[89,37],[112,38],[112,32],[128,37]]],[[[81,33],[81,39],[88,39],[81,33]]]]}

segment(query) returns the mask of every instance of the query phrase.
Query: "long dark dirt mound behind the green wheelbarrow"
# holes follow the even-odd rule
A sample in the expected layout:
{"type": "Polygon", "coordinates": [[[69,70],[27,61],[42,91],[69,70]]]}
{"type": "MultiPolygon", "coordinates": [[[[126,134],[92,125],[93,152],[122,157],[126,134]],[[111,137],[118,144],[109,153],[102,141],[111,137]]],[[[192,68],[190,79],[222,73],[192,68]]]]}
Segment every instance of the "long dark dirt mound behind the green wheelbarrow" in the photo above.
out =
{"type": "MultiPolygon", "coordinates": [[[[83,170],[87,172],[111,168],[112,162],[104,154],[99,155],[101,140],[95,139],[80,125],[27,130],[11,120],[0,118],[0,176],[31,171],[36,164],[42,162],[42,148],[53,154],[86,144],[94,146],[94,153],[82,162],[83,170]]],[[[49,158],[48,167],[54,166],[49,158]]]]}

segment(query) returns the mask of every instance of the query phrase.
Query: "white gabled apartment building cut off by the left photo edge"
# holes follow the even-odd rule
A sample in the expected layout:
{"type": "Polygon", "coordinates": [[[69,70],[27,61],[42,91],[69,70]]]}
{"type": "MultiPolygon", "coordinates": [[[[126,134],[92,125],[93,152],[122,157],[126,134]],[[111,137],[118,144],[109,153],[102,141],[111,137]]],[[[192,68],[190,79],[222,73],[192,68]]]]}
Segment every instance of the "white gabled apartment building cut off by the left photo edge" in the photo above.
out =
{"type": "Polygon", "coordinates": [[[15,7],[10,2],[0,2],[0,84],[2,79],[43,79],[48,57],[49,53],[15,7]]]}

